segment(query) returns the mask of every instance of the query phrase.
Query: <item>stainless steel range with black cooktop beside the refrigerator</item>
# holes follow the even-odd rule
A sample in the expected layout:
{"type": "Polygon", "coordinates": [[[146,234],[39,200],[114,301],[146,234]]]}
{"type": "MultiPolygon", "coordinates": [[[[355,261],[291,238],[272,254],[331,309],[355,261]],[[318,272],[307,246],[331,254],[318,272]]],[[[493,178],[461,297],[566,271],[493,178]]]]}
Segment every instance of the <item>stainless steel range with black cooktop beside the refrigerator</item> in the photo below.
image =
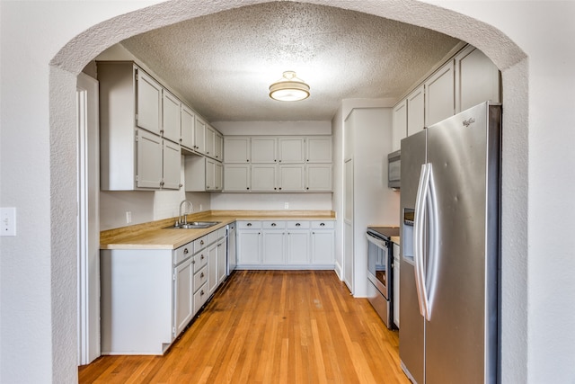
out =
{"type": "Polygon", "coordinates": [[[367,299],[385,326],[394,327],[394,255],[391,237],[399,236],[396,227],[367,228],[367,299]]]}

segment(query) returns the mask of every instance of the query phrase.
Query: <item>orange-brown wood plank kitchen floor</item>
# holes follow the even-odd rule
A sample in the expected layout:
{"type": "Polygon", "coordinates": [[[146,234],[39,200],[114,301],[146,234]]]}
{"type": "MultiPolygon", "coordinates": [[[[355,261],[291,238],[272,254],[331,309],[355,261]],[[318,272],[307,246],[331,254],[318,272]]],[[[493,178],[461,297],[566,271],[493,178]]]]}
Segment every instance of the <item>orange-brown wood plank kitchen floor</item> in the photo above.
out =
{"type": "Polygon", "coordinates": [[[102,356],[80,383],[409,383],[398,333],[333,271],[236,271],[164,356],[102,356]]]}

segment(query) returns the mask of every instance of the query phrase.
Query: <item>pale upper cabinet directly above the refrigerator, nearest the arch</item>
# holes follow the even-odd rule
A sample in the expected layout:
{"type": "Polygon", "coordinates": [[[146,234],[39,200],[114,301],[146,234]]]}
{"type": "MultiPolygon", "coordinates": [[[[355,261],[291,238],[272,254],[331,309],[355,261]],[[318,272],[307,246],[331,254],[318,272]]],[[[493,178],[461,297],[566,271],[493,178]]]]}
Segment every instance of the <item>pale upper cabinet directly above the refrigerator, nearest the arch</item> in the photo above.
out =
{"type": "Polygon", "coordinates": [[[500,103],[500,71],[473,46],[456,55],[456,113],[479,103],[500,103]]]}

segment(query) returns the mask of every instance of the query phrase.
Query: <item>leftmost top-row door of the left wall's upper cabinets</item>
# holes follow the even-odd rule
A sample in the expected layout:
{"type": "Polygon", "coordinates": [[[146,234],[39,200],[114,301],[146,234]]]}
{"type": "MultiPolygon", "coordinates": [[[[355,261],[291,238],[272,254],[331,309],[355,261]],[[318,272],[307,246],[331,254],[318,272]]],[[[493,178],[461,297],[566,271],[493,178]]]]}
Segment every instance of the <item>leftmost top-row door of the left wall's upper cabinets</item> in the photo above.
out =
{"type": "Polygon", "coordinates": [[[162,85],[137,69],[136,124],[159,135],[162,130],[162,85]]]}

